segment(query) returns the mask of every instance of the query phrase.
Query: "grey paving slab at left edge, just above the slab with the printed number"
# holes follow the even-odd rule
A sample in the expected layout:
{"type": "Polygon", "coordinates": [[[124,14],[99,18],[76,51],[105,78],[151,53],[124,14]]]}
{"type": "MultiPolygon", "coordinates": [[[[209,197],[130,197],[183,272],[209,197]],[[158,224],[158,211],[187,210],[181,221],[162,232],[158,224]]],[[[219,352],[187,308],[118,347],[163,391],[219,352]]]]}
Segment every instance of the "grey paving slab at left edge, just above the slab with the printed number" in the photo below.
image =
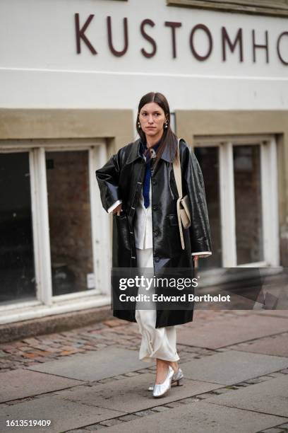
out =
{"type": "Polygon", "coordinates": [[[18,369],[0,373],[0,403],[76,386],[82,381],[18,369]]]}

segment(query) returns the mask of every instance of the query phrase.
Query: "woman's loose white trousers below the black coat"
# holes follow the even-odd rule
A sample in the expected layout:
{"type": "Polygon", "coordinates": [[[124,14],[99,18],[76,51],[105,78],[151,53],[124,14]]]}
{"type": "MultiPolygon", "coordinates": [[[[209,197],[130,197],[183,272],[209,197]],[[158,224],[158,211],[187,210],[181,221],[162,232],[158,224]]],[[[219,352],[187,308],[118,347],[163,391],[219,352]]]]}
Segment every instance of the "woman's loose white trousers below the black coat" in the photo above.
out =
{"type": "MultiPolygon", "coordinates": [[[[153,250],[136,248],[138,267],[153,268],[153,250]]],[[[138,293],[154,293],[154,288],[149,291],[139,288],[138,293]]],[[[147,304],[146,304],[147,305],[147,304]]],[[[180,358],[176,351],[176,326],[155,328],[156,309],[151,302],[151,310],[141,310],[141,304],[136,302],[136,321],[142,340],[139,350],[139,359],[144,362],[152,362],[153,359],[164,359],[165,361],[178,361],[180,358]]]]}

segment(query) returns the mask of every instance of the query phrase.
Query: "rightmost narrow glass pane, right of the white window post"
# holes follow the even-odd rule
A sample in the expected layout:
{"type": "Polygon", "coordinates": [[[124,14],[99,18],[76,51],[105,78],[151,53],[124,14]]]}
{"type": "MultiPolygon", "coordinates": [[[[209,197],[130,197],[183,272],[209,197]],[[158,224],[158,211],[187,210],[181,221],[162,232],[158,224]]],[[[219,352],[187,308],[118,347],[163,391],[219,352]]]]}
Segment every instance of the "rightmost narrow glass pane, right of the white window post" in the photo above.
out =
{"type": "Polygon", "coordinates": [[[233,146],[237,265],[264,260],[260,145],[233,146]]]}

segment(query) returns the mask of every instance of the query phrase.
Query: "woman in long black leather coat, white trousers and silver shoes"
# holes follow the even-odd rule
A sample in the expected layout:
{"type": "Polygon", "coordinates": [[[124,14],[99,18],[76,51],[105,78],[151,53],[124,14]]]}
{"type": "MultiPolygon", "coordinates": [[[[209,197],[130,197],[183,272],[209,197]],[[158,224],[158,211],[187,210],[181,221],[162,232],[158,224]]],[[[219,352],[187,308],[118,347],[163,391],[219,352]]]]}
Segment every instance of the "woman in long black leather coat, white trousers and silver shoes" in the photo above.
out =
{"type": "MultiPolygon", "coordinates": [[[[166,267],[193,270],[194,260],[211,254],[210,226],[203,175],[196,156],[170,127],[170,110],[162,93],[148,93],[138,105],[140,136],[96,171],[102,205],[113,212],[113,267],[150,268],[154,275],[166,267]],[[183,230],[182,249],[176,212],[179,197],[173,171],[181,161],[183,197],[190,202],[191,226],[183,230]]],[[[140,289],[139,289],[140,290],[140,289]]],[[[145,288],[141,289],[145,291],[145,288]]],[[[152,287],[155,291],[155,288],[152,287]]],[[[140,291],[139,291],[140,293],[140,291]]],[[[114,308],[114,316],[137,322],[142,341],[139,359],[156,360],[154,397],[164,396],[183,373],[176,352],[176,325],[193,321],[193,308],[160,310],[155,303],[130,311],[114,308]]]]}

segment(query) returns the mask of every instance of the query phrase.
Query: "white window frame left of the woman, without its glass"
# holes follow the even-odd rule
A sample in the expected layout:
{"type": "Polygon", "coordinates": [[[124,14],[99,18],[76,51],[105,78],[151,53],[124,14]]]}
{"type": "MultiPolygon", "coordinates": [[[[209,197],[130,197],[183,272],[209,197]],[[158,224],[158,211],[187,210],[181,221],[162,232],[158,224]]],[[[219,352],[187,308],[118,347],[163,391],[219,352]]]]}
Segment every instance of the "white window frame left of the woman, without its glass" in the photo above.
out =
{"type": "Polygon", "coordinates": [[[29,152],[33,248],[36,298],[0,306],[1,323],[27,320],[57,313],[109,305],[112,251],[109,241],[109,215],[102,208],[95,171],[107,161],[104,139],[2,140],[1,153],[29,152]],[[95,289],[58,296],[52,295],[49,240],[46,151],[88,151],[92,263],[95,289]],[[31,308],[33,307],[33,308],[31,308]]]}

